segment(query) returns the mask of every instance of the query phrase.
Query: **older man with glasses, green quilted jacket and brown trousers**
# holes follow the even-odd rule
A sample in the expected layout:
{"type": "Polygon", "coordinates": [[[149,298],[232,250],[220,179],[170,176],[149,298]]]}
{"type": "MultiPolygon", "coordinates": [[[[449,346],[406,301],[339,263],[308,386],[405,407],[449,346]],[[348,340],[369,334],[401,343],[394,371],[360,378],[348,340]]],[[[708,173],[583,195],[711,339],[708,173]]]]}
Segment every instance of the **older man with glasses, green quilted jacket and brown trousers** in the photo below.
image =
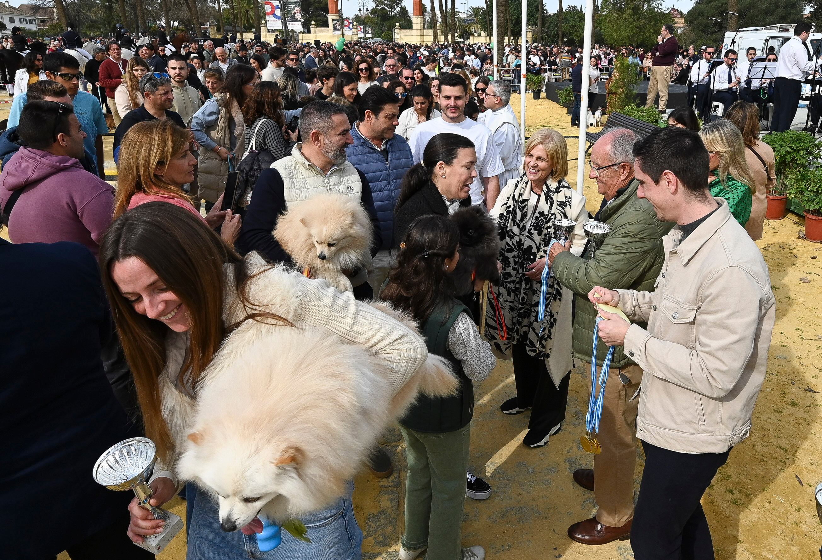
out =
{"type": "MultiPolygon", "coordinates": [[[[574,357],[585,362],[587,371],[593,359],[596,320],[588,292],[594,286],[653,291],[664,260],[662,238],[673,225],[659,222],[653,206],[636,197],[638,183],[631,152],[636,140],[633,131],[615,129],[601,136],[591,150],[589,177],[596,179],[597,190],[604,197],[594,219],[611,227],[595,258],[591,259],[590,244],[581,257],[571,255],[569,246],[558,244],[548,255],[556,279],[575,292],[574,357]]],[[[599,367],[607,351],[607,345],[599,342],[596,356],[599,367]]],[[[593,490],[598,504],[596,516],[569,527],[568,536],[577,542],[605,544],[630,535],[641,381],[640,367],[625,355],[622,347],[615,347],[597,436],[602,452],[594,455],[593,470],[574,472],[574,480],[583,488],[593,490]]],[[[587,401],[586,398],[586,404],[587,401]]]]}

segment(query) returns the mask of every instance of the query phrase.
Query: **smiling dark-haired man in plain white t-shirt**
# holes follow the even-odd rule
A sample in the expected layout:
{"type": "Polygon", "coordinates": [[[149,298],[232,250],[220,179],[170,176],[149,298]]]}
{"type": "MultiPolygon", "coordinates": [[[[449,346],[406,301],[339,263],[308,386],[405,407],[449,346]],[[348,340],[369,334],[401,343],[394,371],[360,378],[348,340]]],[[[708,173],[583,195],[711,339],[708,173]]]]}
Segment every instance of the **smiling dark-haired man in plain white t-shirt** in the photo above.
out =
{"type": "Polygon", "coordinates": [[[468,84],[459,74],[440,75],[440,117],[423,122],[413,131],[409,140],[414,163],[423,159],[423,152],[428,140],[441,132],[452,132],[463,135],[473,142],[477,150],[477,177],[471,184],[471,204],[483,202],[492,209],[496,197],[500,194],[500,177],[505,172],[499,149],[496,148],[494,136],[487,126],[472,121],[464,115],[465,103],[468,100],[468,84]]]}

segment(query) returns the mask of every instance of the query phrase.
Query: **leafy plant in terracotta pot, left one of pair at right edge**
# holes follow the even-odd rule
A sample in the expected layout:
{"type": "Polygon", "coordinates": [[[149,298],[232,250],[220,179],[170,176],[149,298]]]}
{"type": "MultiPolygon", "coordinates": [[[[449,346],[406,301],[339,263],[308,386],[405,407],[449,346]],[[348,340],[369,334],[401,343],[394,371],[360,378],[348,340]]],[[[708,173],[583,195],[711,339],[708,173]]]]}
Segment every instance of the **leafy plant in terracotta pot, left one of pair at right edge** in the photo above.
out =
{"type": "MultiPolygon", "coordinates": [[[[803,131],[784,131],[765,135],[762,139],[774,149],[774,187],[767,193],[768,208],[765,218],[779,220],[785,217],[790,177],[806,169],[808,162],[822,152],[822,143],[803,131]]],[[[798,178],[798,177],[797,177],[798,178]]]]}

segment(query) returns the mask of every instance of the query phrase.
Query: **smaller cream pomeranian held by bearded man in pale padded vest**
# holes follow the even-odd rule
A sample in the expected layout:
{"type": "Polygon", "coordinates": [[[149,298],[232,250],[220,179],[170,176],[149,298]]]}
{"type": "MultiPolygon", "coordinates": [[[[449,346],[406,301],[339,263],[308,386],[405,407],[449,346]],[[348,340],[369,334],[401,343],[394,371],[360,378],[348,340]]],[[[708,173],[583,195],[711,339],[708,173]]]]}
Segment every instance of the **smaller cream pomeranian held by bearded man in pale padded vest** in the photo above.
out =
{"type": "Polygon", "coordinates": [[[275,239],[299,269],[325,278],[339,291],[352,291],[345,271],[371,269],[371,218],[349,196],[316,195],[277,219],[275,239]]]}

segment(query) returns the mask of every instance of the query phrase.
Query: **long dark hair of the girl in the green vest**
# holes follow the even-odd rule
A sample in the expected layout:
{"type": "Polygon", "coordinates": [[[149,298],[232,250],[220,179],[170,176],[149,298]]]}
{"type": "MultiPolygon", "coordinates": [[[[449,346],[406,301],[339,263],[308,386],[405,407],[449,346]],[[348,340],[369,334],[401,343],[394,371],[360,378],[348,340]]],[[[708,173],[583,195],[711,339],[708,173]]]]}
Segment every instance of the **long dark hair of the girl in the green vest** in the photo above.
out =
{"type": "Polygon", "coordinates": [[[421,216],[405,232],[401,247],[380,298],[424,323],[437,306],[453,301],[455,287],[445,260],[459,248],[459,228],[446,216],[421,216]]]}

